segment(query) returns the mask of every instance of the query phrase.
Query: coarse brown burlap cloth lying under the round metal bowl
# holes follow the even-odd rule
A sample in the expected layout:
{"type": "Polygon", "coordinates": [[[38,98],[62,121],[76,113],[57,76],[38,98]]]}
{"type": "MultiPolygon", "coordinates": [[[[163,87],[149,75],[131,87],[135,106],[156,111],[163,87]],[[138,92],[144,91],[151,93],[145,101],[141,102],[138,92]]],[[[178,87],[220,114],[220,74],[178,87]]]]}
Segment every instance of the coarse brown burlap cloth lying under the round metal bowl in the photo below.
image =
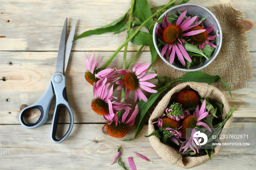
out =
{"type": "MultiPolygon", "coordinates": [[[[214,13],[221,25],[223,40],[217,58],[200,71],[212,76],[219,75],[231,90],[244,88],[252,78],[252,63],[248,44],[245,43],[247,40],[245,30],[241,25],[242,13],[226,4],[208,7],[208,9],[214,13]]],[[[158,75],[169,76],[175,80],[185,73],[170,67],[160,57],[157,58],[158,75]]],[[[212,85],[221,90],[226,89],[221,81],[212,85]]]]}

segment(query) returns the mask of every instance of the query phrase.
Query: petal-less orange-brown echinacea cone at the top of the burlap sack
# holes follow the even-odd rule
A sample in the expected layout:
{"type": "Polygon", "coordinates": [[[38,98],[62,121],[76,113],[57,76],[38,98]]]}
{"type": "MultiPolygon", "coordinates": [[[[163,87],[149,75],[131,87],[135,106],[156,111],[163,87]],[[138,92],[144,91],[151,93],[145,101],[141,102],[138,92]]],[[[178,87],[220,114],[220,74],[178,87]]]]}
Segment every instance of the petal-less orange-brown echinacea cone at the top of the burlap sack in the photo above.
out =
{"type": "Polygon", "coordinates": [[[184,110],[194,109],[200,102],[199,96],[192,89],[182,90],[177,94],[175,102],[180,103],[184,110]]]}

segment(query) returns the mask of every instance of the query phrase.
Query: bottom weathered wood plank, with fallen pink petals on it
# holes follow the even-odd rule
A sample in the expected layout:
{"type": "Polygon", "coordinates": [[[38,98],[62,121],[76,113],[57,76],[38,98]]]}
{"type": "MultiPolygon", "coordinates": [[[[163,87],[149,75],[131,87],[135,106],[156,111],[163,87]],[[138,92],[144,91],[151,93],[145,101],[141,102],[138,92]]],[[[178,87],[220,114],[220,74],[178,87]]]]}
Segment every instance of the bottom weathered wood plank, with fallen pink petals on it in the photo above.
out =
{"type": "MultiPolygon", "coordinates": [[[[233,123],[233,127],[256,128],[256,123],[233,123]]],[[[163,161],[142,133],[132,141],[121,141],[102,132],[103,124],[75,124],[71,135],[61,144],[50,140],[50,125],[29,130],[20,125],[2,125],[0,127],[1,169],[121,169],[114,163],[117,145],[120,146],[120,161],[129,169],[128,157],[132,157],[137,169],[181,169],[163,161]],[[10,140],[12,139],[12,140],[10,140]],[[153,163],[144,161],[133,152],[138,152],[153,163]],[[15,161],[15,162],[14,162],[15,161]]],[[[129,139],[134,128],[125,136],[129,139]]],[[[212,161],[194,169],[253,169],[256,155],[253,150],[225,148],[212,161]],[[232,161],[231,161],[232,160],[232,161]]]]}

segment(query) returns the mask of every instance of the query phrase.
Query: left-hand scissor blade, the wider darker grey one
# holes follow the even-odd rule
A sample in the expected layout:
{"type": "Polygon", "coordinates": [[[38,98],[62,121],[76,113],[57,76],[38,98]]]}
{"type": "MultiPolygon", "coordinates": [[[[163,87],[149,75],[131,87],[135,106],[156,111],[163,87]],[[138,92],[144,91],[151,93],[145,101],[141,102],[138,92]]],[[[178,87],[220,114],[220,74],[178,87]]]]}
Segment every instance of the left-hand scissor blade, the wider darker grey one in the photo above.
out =
{"type": "Polygon", "coordinates": [[[63,73],[65,46],[66,46],[66,34],[67,34],[67,18],[65,19],[65,23],[64,23],[63,30],[61,33],[60,47],[59,47],[59,53],[58,53],[55,72],[63,73]]]}

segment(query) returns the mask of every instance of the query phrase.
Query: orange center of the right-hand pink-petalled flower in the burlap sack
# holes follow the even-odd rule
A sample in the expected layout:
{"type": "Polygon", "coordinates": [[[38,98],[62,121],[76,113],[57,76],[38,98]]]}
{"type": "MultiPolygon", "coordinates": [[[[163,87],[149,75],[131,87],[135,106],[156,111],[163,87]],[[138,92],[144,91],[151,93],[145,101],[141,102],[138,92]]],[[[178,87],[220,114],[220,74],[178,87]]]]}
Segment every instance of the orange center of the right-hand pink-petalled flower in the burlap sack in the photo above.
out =
{"type": "Polygon", "coordinates": [[[197,117],[193,115],[187,116],[183,119],[181,123],[182,125],[181,133],[185,138],[188,139],[191,136],[192,128],[196,127],[196,120],[197,120],[197,117]],[[191,128],[191,129],[186,131],[186,128],[191,128]]]}

